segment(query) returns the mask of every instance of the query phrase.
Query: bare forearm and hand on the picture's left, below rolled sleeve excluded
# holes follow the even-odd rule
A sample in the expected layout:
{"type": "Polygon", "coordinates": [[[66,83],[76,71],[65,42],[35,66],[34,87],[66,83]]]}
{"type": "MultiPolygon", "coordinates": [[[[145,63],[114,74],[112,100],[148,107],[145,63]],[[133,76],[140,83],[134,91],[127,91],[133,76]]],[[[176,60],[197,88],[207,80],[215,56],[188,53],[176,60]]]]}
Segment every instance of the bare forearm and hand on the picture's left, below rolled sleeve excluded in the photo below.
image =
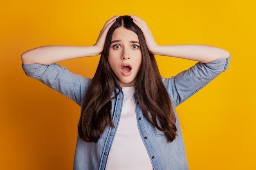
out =
{"type": "Polygon", "coordinates": [[[50,65],[59,61],[101,54],[110,26],[119,17],[116,15],[106,22],[93,46],[42,46],[28,50],[21,55],[23,64],[50,65]]]}

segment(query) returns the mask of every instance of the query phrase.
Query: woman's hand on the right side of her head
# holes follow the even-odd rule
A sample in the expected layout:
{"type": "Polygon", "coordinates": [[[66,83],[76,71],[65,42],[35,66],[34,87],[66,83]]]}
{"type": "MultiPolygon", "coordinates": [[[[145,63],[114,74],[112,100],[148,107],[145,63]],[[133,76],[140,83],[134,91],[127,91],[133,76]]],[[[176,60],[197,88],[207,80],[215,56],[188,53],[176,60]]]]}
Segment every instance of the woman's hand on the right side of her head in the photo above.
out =
{"type": "Polygon", "coordinates": [[[136,17],[135,15],[130,14],[130,17],[133,19],[133,22],[141,29],[149,52],[152,54],[156,54],[158,45],[155,42],[155,39],[146,22],[144,20],[141,20],[139,17],[136,17]]]}

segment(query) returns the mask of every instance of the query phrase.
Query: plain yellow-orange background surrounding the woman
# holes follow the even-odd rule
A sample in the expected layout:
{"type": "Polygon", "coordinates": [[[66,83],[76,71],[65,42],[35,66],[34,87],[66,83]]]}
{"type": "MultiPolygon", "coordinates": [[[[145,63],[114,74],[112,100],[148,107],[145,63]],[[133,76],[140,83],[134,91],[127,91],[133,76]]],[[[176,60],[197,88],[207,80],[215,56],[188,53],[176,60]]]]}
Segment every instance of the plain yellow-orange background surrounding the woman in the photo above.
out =
{"type": "MultiPolygon", "coordinates": [[[[0,169],[70,170],[79,106],[28,78],[22,52],[43,45],[93,45],[106,20],[130,13],[156,41],[209,44],[230,68],[177,107],[191,170],[256,168],[254,0],[4,0],[0,5],[0,169]]],[[[92,77],[99,57],[61,62],[92,77]]],[[[163,76],[194,61],[157,56],[163,76]]]]}

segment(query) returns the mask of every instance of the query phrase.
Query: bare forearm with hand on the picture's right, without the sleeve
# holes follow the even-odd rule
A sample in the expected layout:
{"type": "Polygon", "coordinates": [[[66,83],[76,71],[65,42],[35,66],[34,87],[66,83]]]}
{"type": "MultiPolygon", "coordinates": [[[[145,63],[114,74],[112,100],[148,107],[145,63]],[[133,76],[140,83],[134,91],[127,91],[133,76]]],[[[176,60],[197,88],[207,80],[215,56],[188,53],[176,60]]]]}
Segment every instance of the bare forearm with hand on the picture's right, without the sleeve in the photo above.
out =
{"type": "Polygon", "coordinates": [[[201,63],[209,63],[216,59],[224,59],[230,56],[229,52],[227,52],[226,50],[207,45],[186,44],[159,46],[155,42],[155,39],[146,22],[134,15],[130,15],[130,17],[143,32],[148,50],[152,54],[189,59],[199,61],[201,63]]]}

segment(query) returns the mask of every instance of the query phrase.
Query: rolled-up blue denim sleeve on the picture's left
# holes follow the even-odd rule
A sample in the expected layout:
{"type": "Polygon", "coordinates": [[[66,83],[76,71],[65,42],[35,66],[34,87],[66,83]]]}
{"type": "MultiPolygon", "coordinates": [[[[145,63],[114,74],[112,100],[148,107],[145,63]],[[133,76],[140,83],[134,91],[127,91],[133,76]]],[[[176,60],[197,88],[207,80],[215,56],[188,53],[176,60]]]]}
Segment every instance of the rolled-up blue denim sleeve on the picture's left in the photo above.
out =
{"type": "Polygon", "coordinates": [[[22,68],[27,76],[41,81],[48,87],[71,98],[79,105],[81,105],[81,100],[91,82],[90,78],[73,74],[67,68],[57,64],[22,64],[22,68]]]}

